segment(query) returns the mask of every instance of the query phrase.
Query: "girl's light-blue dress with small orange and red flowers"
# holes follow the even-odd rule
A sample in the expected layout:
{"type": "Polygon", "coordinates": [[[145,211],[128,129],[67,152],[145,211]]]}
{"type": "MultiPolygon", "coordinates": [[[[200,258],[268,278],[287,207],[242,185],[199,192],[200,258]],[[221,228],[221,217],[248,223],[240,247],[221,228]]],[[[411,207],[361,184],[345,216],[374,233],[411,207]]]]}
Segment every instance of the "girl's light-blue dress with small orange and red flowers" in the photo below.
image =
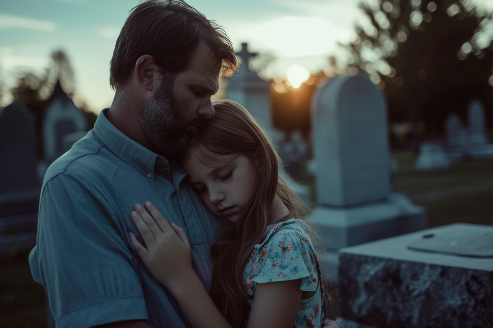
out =
{"type": "MultiPolygon", "coordinates": [[[[323,279],[305,223],[298,219],[270,225],[266,237],[255,245],[243,270],[246,292],[253,297],[257,283],[300,280],[302,291],[315,295],[302,299],[296,328],[319,328],[326,318],[323,279]]],[[[252,301],[248,300],[249,305],[252,301]]]]}

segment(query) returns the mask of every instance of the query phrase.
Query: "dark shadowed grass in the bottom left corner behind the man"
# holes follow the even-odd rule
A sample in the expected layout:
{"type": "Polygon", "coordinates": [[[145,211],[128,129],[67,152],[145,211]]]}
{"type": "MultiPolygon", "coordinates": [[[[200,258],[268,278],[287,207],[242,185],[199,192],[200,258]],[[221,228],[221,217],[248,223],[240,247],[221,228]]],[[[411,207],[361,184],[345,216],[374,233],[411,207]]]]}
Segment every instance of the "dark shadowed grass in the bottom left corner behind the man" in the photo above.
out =
{"type": "Polygon", "coordinates": [[[1,327],[46,327],[44,289],[33,280],[28,256],[23,250],[0,260],[1,327]]]}

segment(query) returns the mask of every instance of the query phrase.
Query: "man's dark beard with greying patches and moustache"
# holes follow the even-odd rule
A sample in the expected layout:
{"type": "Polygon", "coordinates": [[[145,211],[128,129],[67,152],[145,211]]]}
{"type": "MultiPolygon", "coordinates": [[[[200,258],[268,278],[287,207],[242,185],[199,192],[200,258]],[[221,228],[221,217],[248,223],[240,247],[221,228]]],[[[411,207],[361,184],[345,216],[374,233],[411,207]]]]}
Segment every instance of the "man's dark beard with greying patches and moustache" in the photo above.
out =
{"type": "Polygon", "coordinates": [[[176,101],[173,92],[176,75],[164,73],[155,96],[140,110],[144,137],[152,151],[159,155],[175,155],[183,149],[193,132],[186,128],[200,126],[203,120],[187,120],[183,110],[176,101]]]}

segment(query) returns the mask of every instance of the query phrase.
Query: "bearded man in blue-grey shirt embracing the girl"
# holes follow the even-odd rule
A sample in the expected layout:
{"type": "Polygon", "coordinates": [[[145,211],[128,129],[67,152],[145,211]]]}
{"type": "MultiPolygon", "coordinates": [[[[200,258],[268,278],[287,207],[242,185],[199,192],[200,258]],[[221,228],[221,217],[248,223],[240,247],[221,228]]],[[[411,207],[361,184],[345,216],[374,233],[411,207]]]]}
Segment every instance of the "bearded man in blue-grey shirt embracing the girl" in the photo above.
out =
{"type": "Polygon", "coordinates": [[[219,223],[170,159],[214,117],[219,73],[236,65],[224,32],[185,2],[151,0],[133,9],[111,59],[111,108],[43,181],[29,261],[56,327],[188,326],[137,260],[128,233],[139,234],[129,214],[149,200],[183,227],[194,268],[210,285],[219,223]]]}

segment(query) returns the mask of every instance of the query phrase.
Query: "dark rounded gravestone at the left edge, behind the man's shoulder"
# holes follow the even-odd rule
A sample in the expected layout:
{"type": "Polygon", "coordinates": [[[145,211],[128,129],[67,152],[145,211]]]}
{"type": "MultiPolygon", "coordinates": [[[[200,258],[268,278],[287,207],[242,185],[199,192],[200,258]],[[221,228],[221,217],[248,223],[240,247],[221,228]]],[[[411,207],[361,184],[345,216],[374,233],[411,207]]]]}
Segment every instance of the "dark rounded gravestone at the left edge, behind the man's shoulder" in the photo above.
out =
{"type": "Polygon", "coordinates": [[[35,119],[13,103],[0,109],[0,258],[35,244],[40,184],[35,119]]]}

